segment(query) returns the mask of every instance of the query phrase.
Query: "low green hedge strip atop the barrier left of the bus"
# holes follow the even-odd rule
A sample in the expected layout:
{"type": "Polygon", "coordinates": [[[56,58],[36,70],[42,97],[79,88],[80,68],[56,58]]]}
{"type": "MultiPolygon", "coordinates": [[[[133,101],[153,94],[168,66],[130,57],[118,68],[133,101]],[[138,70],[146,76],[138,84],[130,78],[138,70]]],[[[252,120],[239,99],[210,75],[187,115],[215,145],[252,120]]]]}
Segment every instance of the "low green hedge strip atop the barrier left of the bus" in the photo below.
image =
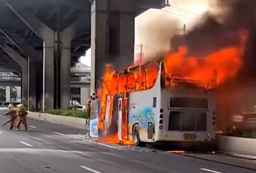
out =
{"type": "Polygon", "coordinates": [[[52,115],[62,115],[62,116],[69,116],[69,117],[77,117],[77,118],[88,118],[88,113],[86,111],[80,110],[52,110],[47,111],[46,113],[52,115]]]}

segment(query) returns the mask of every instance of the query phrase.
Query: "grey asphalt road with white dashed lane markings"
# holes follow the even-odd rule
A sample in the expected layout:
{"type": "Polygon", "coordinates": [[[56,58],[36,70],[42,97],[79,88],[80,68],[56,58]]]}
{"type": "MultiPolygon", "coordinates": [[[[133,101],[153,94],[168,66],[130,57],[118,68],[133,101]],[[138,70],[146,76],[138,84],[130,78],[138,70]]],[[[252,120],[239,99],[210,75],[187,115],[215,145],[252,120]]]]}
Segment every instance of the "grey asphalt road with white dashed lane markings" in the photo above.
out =
{"type": "MultiPolygon", "coordinates": [[[[8,120],[0,108],[0,124],[8,120]]],[[[28,119],[29,130],[0,128],[0,172],[256,172],[256,161],[218,155],[177,155],[97,143],[86,131],[28,119]],[[254,170],[253,170],[254,169],[254,170]]]]}

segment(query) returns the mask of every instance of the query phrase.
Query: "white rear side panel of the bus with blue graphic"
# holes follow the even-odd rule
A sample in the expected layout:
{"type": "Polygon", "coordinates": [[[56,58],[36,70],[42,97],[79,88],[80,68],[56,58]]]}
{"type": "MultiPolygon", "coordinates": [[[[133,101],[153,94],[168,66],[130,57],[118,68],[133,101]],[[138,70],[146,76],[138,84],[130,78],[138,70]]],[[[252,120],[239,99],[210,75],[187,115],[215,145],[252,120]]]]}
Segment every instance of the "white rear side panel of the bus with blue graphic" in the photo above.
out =
{"type": "Polygon", "coordinates": [[[142,142],[155,141],[158,129],[156,127],[159,126],[158,111],[161,102],[161,66],[162,63],[160,64],[156,83],[152,89],[131,92],[129,94],[128,131],[130,140],[133,139],[133,127],[135,124],[138,124],[140,140],[142,142]],[[148,134],[148,132],[151,134],[148,134]]]}

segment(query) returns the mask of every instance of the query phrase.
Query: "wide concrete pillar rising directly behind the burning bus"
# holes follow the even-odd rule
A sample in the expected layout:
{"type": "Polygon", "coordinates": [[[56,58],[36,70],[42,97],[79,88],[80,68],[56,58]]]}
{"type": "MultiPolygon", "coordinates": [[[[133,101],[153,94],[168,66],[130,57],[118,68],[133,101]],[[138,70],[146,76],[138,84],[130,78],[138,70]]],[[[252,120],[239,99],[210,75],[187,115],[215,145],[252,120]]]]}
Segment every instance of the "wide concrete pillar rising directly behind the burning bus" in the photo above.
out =
{"type": "Polygon", "coordinates": [[[106,63],[116,70],[134,59],[135,0],[97,0],[91,12],[91,93],[106,63]]]}

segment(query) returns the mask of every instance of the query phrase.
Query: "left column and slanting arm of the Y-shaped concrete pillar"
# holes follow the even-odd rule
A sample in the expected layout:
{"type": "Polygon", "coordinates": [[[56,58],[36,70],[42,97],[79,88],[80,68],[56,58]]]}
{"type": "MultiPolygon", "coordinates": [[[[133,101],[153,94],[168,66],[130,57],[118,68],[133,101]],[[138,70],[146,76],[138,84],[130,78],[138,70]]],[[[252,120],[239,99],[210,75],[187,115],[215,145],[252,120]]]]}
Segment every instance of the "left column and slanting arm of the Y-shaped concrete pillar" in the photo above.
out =
{"type": "Polygon", "coordinates": [[[54,31],[27,10],[19,8],[19,5],[15,2],[8,1],[5,2],[5,4],[27,25],[30,30],[44,40],[42,111],[53,110],[55,101],[54,31]]]}

